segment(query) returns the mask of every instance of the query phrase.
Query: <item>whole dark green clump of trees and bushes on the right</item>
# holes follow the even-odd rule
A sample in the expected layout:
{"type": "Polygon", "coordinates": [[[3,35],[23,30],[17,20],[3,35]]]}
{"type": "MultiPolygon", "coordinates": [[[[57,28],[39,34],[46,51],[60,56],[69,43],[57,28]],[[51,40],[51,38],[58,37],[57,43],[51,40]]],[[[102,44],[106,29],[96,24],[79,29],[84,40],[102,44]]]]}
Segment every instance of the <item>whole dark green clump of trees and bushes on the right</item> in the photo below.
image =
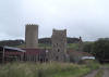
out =
{"type": "Polygon", "coordinates": [[[86,43],[83,51],[93,53],[101,63],[109,61],[109,38],[101,38],[95,42],[86,43]]]}

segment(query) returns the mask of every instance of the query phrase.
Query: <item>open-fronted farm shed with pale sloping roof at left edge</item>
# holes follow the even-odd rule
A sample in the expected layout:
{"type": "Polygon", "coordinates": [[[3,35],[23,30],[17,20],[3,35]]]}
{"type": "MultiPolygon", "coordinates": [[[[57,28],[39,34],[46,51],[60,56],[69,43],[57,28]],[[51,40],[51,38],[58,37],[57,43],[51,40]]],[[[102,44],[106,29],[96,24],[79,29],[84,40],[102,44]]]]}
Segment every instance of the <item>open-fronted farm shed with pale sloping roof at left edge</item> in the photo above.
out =
{"type": "Polygon", "coordinates": [[[25,50],[13,47],[0,47],[0,63],[23,61],[25,50]]]}

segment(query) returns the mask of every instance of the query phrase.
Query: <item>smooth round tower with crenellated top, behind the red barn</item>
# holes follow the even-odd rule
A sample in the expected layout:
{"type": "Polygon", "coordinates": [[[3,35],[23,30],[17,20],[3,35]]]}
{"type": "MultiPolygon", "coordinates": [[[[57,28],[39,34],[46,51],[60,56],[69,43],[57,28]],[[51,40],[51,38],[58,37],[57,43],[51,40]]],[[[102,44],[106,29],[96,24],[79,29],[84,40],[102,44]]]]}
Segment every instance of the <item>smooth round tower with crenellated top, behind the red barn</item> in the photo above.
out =
{"type": "Polygon", "coordinates": [[[25,47],[35,49],[38,47],[38,25],[27,24],[25,29],[25,47]]]}

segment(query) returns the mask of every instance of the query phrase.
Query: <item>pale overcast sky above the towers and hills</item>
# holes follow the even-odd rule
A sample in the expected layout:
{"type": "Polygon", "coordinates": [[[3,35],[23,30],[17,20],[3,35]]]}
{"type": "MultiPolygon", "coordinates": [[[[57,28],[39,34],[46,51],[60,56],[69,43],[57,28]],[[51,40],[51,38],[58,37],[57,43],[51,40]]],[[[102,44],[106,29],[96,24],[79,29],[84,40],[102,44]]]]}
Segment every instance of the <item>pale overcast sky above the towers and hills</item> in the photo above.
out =
{"type": "Polygon", "coordinates": [[[109,37],[109,0],[0,0],[0,40],[24,39],[25,24],[39,25],[39,38],[52,28],[68,37],[109,37]]]}

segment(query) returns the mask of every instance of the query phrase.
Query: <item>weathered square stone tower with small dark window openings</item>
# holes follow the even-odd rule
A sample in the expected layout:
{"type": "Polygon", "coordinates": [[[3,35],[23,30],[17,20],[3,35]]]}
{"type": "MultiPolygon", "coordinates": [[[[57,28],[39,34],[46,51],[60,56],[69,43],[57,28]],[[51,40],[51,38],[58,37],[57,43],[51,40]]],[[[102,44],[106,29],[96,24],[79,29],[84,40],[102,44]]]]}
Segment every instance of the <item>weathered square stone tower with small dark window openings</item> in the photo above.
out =
{"type": "Polygon", "coordinates": [[[66,54],[66,29],[52,31],[52,50],[51,50],[51,61],[65,61],[66,54]]]}

